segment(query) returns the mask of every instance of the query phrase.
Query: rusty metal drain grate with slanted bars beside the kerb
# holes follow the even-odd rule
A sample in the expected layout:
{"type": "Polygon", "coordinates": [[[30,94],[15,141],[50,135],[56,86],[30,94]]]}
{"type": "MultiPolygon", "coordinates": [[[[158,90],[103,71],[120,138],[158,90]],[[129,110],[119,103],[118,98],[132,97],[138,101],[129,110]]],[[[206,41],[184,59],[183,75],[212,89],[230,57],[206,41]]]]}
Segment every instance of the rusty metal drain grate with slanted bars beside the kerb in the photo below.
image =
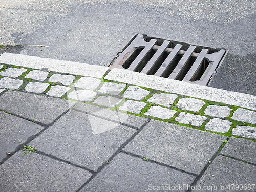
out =
{"type": "Polygon", "coordinates": [[[207,86],[228,50],[136,34],[111,65],[207,86]]]}

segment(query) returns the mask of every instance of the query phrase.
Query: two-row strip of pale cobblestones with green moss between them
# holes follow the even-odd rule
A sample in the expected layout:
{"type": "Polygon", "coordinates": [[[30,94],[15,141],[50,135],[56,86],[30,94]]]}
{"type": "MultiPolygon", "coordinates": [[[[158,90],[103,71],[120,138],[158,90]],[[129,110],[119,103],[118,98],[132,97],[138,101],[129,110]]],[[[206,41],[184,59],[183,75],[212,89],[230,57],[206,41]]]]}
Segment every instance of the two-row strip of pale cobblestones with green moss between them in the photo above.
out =
{"type": "Polygon", "coordinates": [[[255,111],[134,85],[1,64],[0,94],[6,89],[85,101],[202,130],[256,139],[255,111]]]}

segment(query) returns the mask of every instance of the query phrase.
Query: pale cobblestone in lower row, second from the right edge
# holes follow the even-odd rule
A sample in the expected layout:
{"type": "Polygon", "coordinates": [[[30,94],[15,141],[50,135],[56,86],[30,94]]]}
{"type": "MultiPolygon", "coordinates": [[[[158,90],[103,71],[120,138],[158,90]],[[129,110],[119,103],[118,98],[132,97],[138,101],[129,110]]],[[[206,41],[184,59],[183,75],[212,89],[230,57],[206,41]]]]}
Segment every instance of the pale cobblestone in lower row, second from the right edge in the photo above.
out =
{"type": "Polygon", "coordinates": [[[231,124],[232,123],[228,120],[214,118],[206,123],[205,129],[214,132],[226,133],[229,131],[231,124]]]}

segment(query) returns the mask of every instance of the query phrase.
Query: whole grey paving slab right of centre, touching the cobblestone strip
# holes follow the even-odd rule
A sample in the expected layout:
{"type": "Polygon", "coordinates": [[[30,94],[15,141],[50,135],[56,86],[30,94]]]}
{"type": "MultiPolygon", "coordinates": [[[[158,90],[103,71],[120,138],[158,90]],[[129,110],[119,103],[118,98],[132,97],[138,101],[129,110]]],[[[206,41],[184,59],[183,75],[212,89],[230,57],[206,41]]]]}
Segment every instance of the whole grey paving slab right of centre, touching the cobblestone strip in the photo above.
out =
{"type": "Polygon", "coordinates": [[[199,174],[226,136],[151,120],[125,151],[199,174]]]}

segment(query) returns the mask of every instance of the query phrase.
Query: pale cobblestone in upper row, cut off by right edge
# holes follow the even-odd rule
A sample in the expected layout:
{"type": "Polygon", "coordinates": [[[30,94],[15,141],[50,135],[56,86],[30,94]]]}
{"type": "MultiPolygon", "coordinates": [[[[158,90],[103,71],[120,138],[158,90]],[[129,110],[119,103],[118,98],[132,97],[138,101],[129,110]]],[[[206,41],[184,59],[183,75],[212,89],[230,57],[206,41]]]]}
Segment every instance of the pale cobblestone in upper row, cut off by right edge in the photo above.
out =
{"type": "Polygon", "coordinates": [[[234,120],[256,124],[256,112],[238,108],[231,117],[234,120]]]}

